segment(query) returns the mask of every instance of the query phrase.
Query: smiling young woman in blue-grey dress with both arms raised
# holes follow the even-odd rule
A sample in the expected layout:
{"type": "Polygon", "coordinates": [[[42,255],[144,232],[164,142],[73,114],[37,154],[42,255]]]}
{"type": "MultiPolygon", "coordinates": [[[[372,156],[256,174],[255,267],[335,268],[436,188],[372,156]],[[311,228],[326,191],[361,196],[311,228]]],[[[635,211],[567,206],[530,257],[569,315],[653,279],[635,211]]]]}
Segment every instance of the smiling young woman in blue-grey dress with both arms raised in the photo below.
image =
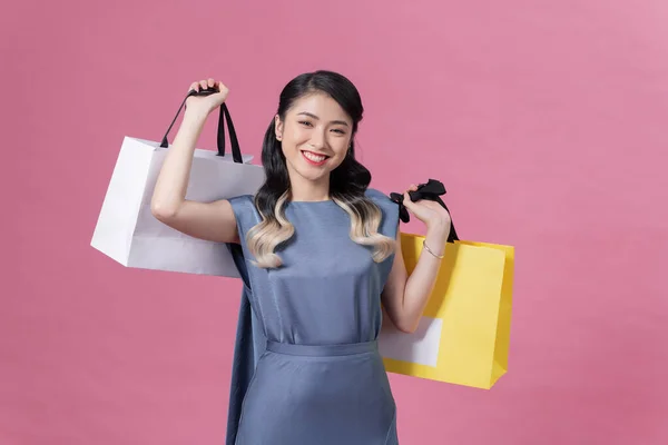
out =
{"type": "MultiPolygon", "coordinates": [[[[404,205],[426,225],[425,249],[407,276],[399,205],[367,188],[355,160],[363,107],[345,77],[317,71],[293,79],[266,131],[266,181],[256,196],[186,200],[193,152],[207,116],[228,89],[214,79],[191,89],[159,174],[151,209],[190,236],[230,244],[257,330],[266,339],[252,369],[238,363],[228,445],[394,445],[395,403],[376,338],[385,309],[413,332],[428,303],[450,233],[438,202],[404,205]],[[240,383],[239,383],[240,382],[240,383]]],[[[409,190],[415,189],[411,186],[409,190]]],[[[236,347],[249,342],[237,334],[236,347]]]]}

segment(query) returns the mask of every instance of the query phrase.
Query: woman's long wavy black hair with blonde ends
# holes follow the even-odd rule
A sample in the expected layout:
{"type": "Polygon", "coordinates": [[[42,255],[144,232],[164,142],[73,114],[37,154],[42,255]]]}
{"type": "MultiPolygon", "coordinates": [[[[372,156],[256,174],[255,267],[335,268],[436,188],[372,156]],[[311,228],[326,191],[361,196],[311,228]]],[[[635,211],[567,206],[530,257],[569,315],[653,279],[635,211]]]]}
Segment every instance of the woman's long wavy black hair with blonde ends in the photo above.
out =
{"type": "MultiPolygon", "coordinates": [[[[394,239],[379,233],[381,209],[365,197],[371,172],[355,159],[354,136],[364,113],[362,98],[355,86],[344,76],[320,70],[306,72],[291,80],[281,92],[277,115],[285,120],[288,109],[299,98],[324,92],[347,112],[353,121],[351,146],[343,160],[330,174],[330,197],[351,217],[351,239],[364,246],[373,246],[373,259],[382,261],[394,250],[394,239]]],[[[292,198],[289,176],[281,141],[276,139],[275,120],[272,119],[264,137],[262,162],[265,182],[255,196],[262,222],[248,230],[247,245],[258,267],[278,267],[281,257],[276,247],[294,235],[294,226],[285,218],[285,206],[292,198]]]]}

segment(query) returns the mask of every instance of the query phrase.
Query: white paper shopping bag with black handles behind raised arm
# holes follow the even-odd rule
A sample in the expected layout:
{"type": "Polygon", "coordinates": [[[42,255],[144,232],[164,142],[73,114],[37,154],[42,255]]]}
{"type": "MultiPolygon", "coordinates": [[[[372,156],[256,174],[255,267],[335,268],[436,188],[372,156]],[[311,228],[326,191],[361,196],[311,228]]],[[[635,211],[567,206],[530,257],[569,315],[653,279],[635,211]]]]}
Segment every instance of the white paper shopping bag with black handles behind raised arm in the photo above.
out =
{"type": "MultiPolygon", "coordinates": [[[[184,105],[185,100],[177,117],[184,105]]],[[[153,191],[169,149],[169,129],[163,142],[131,137],[124,139],[91,246],[126,267],[239,277],[225,244],[190,237],[151,215],[153,191]]],[[[229,111],[223,103],[218,121],[218,152],[195,150],[186,199],[208,202],[254,195],[264,182],[265,175],[261,166],[249,164],[252,159],[252,156],[242,156],[229,111]],[[232,156],[225,155],[224,116],[229,127],[232,156]]]]}

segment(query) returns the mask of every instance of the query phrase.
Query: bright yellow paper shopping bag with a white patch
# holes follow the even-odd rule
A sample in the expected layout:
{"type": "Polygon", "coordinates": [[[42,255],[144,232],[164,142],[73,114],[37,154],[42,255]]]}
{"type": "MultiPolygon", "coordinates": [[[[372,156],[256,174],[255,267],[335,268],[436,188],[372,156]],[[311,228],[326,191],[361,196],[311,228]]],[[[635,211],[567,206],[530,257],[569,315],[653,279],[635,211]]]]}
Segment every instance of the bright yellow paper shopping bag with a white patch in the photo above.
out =
{"type": "MultiPolygon", "coordinates": [[[[423,240],[401,234],[409,274],[423,240]]],[[[418,330],[399,333],[383,324],[385,369],[490,389],[508,370],[514,248],[454,240],[444,255],[418,330]]]]}

